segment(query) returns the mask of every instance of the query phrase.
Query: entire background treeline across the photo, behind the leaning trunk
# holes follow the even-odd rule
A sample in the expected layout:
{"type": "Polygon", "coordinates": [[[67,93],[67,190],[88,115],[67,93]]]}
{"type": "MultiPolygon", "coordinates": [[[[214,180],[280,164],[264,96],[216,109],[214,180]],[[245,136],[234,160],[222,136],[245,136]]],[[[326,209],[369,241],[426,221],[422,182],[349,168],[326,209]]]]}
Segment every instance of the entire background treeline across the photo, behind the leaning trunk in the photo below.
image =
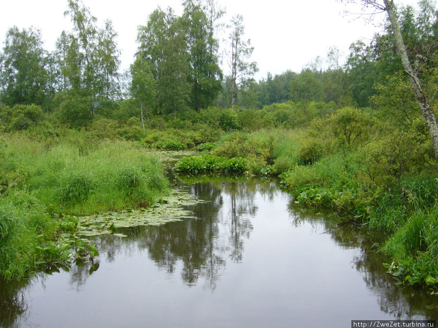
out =
{"type": "MultiPolygon", "coordinates": [[[[422,0],[418,10],[406,6],[398,13],[408,54],[433,103],[437,10],[422,0]]],[[[209,106],[261,109],[288,101],[303,104],[303,110],[312,101],[333,102],[338,108],[372,106],[391,113],[397,124],[412,121],[419,112],[389,22],[370,44],[353,43],[345,64],[332,47],[326,60],[316,57],[299,73],[268,73],[256,82],[253,48],[250,40],[243,40],[241,16],[227,26],[230,52],[225,58],[219,55],[224,10],[214,0],[186,0],[181,16],[171,8],[153,11],[138,28],[138,52],[123,74],[111,21],[97,26],[96,17],[79,0],[68,1],[65,15],[73,30],[61,33],[55,52],[43,48],[35,28],[8,31],[0,54],[0,103],[9,109],[2,116],[17,104],[35,104],[72,127],[89,125],[96,113],[122,120],[136,116],[145,126],[151,115],[172,114],[176,119],[209,106]],[[220,60],[228,62],[229,75],[220,69],[220,60]]],[[[28,123],[16,122],[10,129],[28,123]]]]}

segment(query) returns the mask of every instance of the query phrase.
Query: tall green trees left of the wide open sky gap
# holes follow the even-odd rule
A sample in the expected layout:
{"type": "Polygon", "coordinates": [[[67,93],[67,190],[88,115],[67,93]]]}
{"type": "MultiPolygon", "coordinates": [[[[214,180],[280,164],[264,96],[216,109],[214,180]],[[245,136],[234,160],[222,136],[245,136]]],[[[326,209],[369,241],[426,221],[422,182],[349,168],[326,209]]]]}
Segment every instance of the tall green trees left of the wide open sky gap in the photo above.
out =
{"type": "MultiPolygon", "coordinates": [[[[54,52],[43,48],[37,29],[9,29],[0,54],[0,102],[60,111],[60,121],[72,126],[112,114],[124,99],[135,100],[146,117],[199,112],[216,105],[222,90],[217,34],[224,13],[215,0],[185,0],[182,16],[157,8],[138,27],[135,61],[122,74],[112,22],[98,26],[80,0],[69,0],[64,15],[73,30],[61,33],[54,52]]],[[[248,61],[253,48],[242,38],[243,17],[233,17],[227,29],[232,104],[256,64],[248,61]]]]}

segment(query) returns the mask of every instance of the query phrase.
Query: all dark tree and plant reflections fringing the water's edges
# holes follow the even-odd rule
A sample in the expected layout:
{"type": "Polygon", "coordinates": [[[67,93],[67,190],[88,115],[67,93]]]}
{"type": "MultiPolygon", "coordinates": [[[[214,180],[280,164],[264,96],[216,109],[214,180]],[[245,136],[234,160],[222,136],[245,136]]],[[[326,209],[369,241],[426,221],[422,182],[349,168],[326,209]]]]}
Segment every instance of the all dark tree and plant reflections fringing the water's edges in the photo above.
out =
{"type": "MultiPolygon", "coordinates": [[[[286,208],[279,210],[289,212],[292,227],[300,229],[311,224],[313,235],[327,235],[341,249],[358,250],[351,264],[368,290],[377,296],[374,300],[383,313],[403,319],[436,319],[434,315],[438,308],[433,296],[425,291],[399,287],[384,273],[382,263],[387,259],[375,251],[374,242],[379,240],[375,232],[370,236],[364,229],[339,225],[341,220],[336,215],[298,207],[292,196],[279,190],[270,180],[225,180],[223,177],[204,177],[201,180],[186,177],[181,180],[180,185],[208,201],[190,208],[200,220],[123,228],[118,232],[127,235],[124,238],[113,235],[94,237],[100,257],[93,262],[72,265],[70,286],[81,291],[87,288],[91,277],[101,278],[101,271],[105,270],[102,269],[103,263],[135,258],[138,261],[150,259],[169,275],[178,273],[186,286],[202,284],[204,290],[214,293],[220,286],[227,264],[245,262],[245,243],[252,237],[253,221],[262,210],[263,202],[277,204],[280,198],[286,198],[286,208]]],[[[26,294],[32,289],[32,284],[43,280],[44,274],[41,273],[30,282],[0,283],[0,326],[19,326],[18,318],[25,318],[30,311],[26,294]]]]}

